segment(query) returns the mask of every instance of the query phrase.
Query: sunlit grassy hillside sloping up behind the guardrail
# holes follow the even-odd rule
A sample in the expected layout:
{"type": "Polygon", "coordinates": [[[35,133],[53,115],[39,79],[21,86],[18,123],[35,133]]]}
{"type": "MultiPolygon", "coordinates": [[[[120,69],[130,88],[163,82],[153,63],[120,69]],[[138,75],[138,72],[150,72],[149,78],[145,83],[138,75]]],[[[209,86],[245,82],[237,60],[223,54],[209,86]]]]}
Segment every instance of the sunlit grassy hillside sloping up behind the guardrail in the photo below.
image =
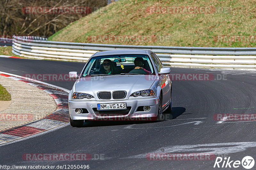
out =
{"type": "Polygon", "coordinates": [[[254,47],[256,42],[216,42],[218,35],[255,35],[255,1],[122,0],[80,18],[49,37],[52,41],[155,45],[254,47]],[[213,13],[149,13],[149,6],[214,6],[213,13]],[[101,12],[99,12],[101,11],[101,12]],[[92,42],[90,36],[170,36],[170,40],[92,42]]]}

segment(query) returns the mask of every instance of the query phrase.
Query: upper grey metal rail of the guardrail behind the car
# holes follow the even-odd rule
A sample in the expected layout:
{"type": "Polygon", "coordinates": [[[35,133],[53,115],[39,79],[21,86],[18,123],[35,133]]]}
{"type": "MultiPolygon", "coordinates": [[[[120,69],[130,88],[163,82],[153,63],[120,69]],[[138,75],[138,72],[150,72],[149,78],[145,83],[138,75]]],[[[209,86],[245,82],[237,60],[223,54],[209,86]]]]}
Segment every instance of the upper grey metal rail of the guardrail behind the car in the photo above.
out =
{"type": "MultiPolygon", "coordinates": [[[[15,37],[14,39],[17,39],[15,37]]],[[[23,39],[25,40],[25,39],[23,39]]],[[[155,53],[169,54],[192,54],[192,55],[256,55],[255,47],[177,47],[177,46],[129,46],[116,44],[92,44],[92,43],[74,43],[60,41],[44,41],[27,39],[26,42],[20,42],[23,45],[30,43],[31,46],[49,46],[55,48],[72,48],[80,50],[119,50],[119,49],[148,49],[155,53]]]]}

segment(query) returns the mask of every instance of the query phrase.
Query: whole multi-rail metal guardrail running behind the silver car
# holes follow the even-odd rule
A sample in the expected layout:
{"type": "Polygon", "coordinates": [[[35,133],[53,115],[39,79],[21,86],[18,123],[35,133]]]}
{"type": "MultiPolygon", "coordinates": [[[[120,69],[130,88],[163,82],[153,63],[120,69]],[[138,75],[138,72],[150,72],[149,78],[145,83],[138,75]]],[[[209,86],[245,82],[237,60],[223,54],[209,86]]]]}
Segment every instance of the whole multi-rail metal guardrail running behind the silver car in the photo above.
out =
{"type": "Polygon", "coordinates": [[[36,40],[13,36],[16,55],[38,59],[87,61],[97,51],[149,49],[165,66],[256,69],[256,48],[127,46],[36,40]],[[186,55],[184,55],[186,54],[186,55]],[[201,54],[201,55],[198,55],[201,54]]]}

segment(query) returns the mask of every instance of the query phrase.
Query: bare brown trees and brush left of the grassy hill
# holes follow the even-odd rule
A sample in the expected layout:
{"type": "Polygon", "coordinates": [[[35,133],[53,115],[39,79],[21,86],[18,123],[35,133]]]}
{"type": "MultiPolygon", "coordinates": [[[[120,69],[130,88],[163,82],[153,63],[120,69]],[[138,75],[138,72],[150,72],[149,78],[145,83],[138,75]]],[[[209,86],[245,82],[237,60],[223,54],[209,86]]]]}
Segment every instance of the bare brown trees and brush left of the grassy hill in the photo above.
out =
{"type": "Polygon", "coordinates": [[[106,5],[107,0],[1,0],[0,35],[48,37],[66,27],[69,23],[106,5]],[[81,12],[82,10],[75,13],[68,10],[61,12],[65,7],[71,9],[87,8],[83,12],[81,12]],[[40,12],[35,12],[39,8],[40,12]],[[42,12],[41,9],[46,10],[42,12]],[[53,12],[54,9],[55,12],[53,12]]]}

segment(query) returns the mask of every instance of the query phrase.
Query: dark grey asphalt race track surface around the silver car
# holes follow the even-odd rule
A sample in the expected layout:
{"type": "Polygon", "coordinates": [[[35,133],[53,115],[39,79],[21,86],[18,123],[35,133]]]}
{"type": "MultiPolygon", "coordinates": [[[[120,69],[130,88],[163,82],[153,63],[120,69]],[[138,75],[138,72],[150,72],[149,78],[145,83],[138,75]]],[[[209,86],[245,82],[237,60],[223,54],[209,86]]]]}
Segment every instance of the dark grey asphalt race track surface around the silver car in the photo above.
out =
{"type": "MultiPolygon", "coordinates": [[[[78,62],[0,58],[0,71],[18,75],[80,73],[83,67],[84,63],[78,62]]],[[[165,113],[168,118],[163,122],[92,122],[82,128],[69,125],[1,146],[1,165],[79,164],[89,165],[90,169],[234,169],[213,168],[216,158],[148,160],[146,155],[205,152],[216,157],[230,157],[234,161],[242,161],[245,156],[256,159],[255,118],[216,120],[217,114],[256,115],[256,72],[171,68],[171,74],[213,74],[214,79],[221,77],[221,80],[173,80],[173,112],[165,113]],[[26,153],[89,153],[92,159],[29,161],[22,159],[26,153]]],[[[45,82],[71,89],[74,81],[45,82]]],[[[244,168],[240,165],[236,169],[244,168]]]]}

